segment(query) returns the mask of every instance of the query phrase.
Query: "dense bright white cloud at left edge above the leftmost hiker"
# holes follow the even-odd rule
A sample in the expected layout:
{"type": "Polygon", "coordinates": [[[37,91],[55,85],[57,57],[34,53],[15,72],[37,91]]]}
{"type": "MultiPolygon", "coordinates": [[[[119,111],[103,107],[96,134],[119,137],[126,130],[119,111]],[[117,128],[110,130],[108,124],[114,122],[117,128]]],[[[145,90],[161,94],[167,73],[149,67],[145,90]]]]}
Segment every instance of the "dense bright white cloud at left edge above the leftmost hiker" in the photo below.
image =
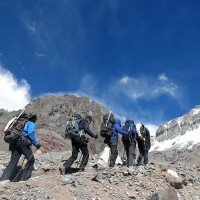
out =
{"type": "Polygon", "coordinates": [[[15,77],[0,64],[0,108],[8,111],[24,108],[30,101],[30,86],[26,80],[15,77]]]}

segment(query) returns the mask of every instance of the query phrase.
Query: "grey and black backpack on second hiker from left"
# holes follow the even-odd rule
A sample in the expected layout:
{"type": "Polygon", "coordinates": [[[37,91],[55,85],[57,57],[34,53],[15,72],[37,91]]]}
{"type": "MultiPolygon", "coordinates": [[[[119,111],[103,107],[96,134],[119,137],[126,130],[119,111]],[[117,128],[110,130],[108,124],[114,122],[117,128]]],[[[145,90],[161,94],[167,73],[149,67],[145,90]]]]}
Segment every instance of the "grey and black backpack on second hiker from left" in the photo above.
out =
{"type": "Polygon", "coordinates": [[[74,113],[72,116],[69,117],[66,123],[65,129],[65,137],[68,139],[73,139],[74,137],[80,134],[80,123],[83,121],[83,117],[78,114],[74,113]]]}

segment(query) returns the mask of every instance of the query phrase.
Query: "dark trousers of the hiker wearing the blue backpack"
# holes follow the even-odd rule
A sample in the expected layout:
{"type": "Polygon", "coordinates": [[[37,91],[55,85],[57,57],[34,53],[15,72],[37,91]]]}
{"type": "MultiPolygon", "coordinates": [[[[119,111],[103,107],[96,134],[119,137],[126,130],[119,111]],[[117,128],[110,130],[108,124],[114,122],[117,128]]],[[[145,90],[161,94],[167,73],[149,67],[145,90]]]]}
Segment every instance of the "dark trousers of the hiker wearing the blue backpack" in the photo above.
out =
{"type": "Polygon", "coordinates": [[[133,161],[135,160],[136,141],[130,143],[130,140],[122,140],[122,143],[126,152],[127,167],[133,166],[133,161]]]}

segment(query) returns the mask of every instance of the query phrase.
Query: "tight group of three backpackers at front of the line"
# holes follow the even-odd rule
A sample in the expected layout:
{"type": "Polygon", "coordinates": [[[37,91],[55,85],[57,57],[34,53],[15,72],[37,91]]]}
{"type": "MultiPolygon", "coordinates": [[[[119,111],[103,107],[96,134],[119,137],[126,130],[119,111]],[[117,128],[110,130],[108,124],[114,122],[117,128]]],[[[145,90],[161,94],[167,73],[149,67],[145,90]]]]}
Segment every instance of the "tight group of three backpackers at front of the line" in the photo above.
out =
{"type": "Polygon", "coordinates": [[[140,165],[143,159],[143,164],[146,165],[148,163],[148,151],[151,147],[149,130],[143,124],[135,124],[130,119],[127,119],[124,126],[121,126],[121,121],[115,119],[110,112],[104,115],[100,130],[100,135],[105,138],[104,143],[108,145],[111,152],[109,167],[114,167],[118,156],[118,133],[122,135],[127,167],[136,164],[136,145],[138,145],[140,153],[137,158],[137,165],[140,165]]]}

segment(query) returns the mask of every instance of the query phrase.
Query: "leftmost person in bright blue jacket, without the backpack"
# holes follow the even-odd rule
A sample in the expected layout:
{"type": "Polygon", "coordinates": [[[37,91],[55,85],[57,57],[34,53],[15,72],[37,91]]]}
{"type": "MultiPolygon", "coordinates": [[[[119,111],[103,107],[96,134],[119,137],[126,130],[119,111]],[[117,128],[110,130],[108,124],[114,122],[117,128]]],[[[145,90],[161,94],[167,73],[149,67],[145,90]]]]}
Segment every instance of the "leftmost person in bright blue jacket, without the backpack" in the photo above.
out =
{"type": "MultiPolygon", "coordinates": [[[[28,116],[28,121],[26,122],[23,130],[21,131],[21,136],[19,139],[17,139],[15,144],[10,145],[9,150],[12,151],[11,160],[4,170],[0,181],[11,180],[12,174],[15,171],[17,163],[22,154],[27,159],[27,162],[24,169],[22,170],[20,181],[26,181],[31,177],[33,165],[35,162],[31,145],[33,144],[37,149],[39,149],[41,146],[40,143],[37,142],[34,134],[36,120],[37,115],[35,113],[31,113],[28,116]]],[[[16,177],[14,177],[14,179],[15,178],[16,177]]]]}

